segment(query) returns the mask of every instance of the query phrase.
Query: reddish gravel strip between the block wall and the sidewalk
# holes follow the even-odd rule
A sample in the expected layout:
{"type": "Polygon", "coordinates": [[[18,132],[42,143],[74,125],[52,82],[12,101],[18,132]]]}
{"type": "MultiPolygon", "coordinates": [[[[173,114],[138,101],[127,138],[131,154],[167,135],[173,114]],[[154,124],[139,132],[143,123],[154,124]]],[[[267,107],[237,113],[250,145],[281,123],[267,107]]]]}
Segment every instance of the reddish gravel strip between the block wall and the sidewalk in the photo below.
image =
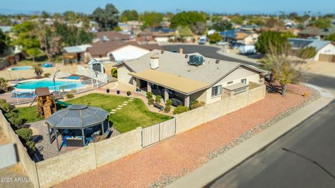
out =
{"type": "Polygon", "coordinates": [[[308,100],[302,96],[304,92],[313,93],[312,89],[290,85],[285,97],[267,94],[264,100],[251,106],[62,182],[56,187],[162,187],[222,153],[218,151],[223,146],[230,145],[255,126],[304,104],[308,100]]]}

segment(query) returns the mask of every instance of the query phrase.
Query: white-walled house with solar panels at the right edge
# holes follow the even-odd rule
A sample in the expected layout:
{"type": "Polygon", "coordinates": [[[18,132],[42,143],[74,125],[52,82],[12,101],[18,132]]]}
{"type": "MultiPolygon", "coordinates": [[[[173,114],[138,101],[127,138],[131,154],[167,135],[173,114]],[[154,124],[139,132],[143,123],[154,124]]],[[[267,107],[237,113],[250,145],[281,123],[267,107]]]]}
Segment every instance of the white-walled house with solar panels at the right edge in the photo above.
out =
{"type": "Polygon", "coordinates": [[[316,55],[313,61],[320,62],[335,62],[335,45],[332,41],[318,41],[304,38],[289,38],[293,50],[300,48],[313,47],[316,50],[316,55]]]}

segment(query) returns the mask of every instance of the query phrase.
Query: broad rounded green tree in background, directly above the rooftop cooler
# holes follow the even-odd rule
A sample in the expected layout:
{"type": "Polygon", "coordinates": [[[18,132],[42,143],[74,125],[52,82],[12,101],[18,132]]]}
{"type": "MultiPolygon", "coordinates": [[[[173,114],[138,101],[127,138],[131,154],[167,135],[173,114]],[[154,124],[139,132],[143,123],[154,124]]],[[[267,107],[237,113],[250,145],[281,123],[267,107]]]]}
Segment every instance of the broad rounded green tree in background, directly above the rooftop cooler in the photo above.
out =
{"type": "Polygon", "coordinates": [[[197,22],[206,23],[206,19],[203,14],[196,11],[181,12],[174,15],[171,19],[171,28],[177,28],[179,26],[193,27],[197,22]]]}

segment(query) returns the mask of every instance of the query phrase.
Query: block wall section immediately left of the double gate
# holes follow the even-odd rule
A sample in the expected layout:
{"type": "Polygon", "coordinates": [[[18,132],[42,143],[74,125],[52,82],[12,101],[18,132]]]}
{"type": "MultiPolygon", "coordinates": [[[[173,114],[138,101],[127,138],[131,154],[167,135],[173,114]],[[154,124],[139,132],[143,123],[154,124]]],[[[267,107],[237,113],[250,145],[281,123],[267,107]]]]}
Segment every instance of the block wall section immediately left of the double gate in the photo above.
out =
{"type": "Polygon", "coordinates": [[[97,167],[142,150],[142,127],[95,143],[97,167]]]}

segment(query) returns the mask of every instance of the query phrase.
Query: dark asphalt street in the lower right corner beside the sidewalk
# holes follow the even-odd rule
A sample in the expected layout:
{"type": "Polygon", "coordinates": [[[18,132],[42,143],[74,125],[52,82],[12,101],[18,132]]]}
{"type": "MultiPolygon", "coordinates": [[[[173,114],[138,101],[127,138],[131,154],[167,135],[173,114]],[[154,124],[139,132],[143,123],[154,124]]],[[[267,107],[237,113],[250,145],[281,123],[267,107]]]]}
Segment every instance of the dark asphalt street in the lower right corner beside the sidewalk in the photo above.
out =
{"type": "Polygon", "coordinates": [[[335,187],[335,102],[207,187],[335,187]]]}

